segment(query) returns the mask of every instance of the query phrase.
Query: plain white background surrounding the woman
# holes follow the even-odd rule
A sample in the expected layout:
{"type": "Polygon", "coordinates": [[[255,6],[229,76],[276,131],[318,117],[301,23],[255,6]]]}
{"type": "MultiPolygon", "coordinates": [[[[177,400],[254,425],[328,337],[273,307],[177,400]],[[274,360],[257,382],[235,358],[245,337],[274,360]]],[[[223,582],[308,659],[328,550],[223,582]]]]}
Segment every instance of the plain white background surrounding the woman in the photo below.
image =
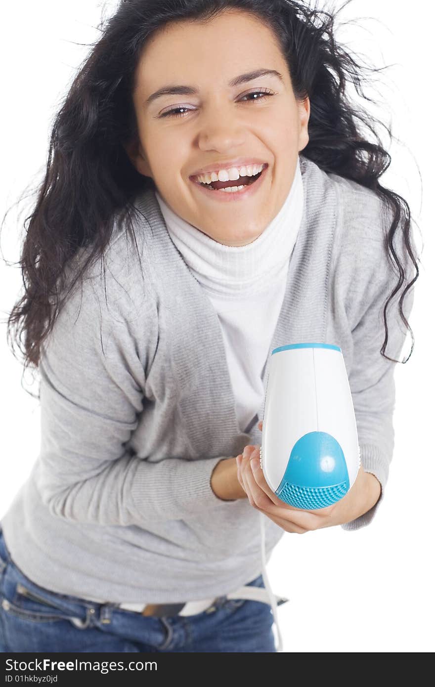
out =
{"type": "MultiPolygon", "coordinates": [[[[102,12],[110,14],[113,7],[89,0],[26,0],[3,8],[0,221],[26,188],[28,193],[42,180],[52,118],[88,51],[78,44],[98,40],[102,12]]],[[[421,229],[415,233],[424,249],[410,318],[415,347],[408,363],[396,365],[396,444],[377,517],[355,532],[335,527],[303,536],[286,533],[272,554],[269,579],[290,598],[279,609],[286,652],[433,651],[434,10],[423,0],[412,8],[397,0],[354,0],[342,13],[345,19],[355,21],[339,28],[340,41],[378,67],[394,65],[377,76],[377,91],[368,93],[381,98],[381,107],[372,111],[392,121],[399,139],[390,145],[384,138],[392,165],[381,183],[408,200],[421,229]]],[[[9,262],[19,259],[31,203],[32,196],[12,207],[3,225],[1,250],[9,262]]],[[[6,340],[5,317],[21,286],[19,268],[1,260],[0,519],[40,442],[38,401],[23,388],[36,393],[37,384],[32,387],[29,372],[22,380],[21,361],[6,340]]],[[[402,357],[410,343],[408,333],[402,357]]]]}

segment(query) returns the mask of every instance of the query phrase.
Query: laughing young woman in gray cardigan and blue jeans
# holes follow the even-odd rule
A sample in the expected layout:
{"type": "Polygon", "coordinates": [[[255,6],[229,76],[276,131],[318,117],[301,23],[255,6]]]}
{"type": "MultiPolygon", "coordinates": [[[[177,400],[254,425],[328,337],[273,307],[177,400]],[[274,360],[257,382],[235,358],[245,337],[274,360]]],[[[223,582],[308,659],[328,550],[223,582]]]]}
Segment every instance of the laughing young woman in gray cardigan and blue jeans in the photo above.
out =
{"type": "Polygon", "coordinates": [[[129,0],[104,27],[8,321],[41,375],[41,450],[1,520],[3,651],[276,651],[282,534],[374,517],[405,339],[386,313],[409,328],[419,271],[350,81],[334,16],[301,2],[129,0]],[[258,465],[271,350],[304,341],[342,349],[361,451],[317,510],[258,465]]]}

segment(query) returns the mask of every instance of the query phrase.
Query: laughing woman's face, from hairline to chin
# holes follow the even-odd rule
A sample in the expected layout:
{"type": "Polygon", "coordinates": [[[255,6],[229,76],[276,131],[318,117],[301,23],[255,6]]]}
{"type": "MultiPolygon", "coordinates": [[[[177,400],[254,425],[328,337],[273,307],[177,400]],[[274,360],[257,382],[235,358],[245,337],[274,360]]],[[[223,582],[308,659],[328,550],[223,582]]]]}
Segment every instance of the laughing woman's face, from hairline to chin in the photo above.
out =
{"type": "Polygon", "coordinates": [[[153,178],[173,212],[210,238],[228,246],[252,243],[284,204],[309,140],[309,100],[295,100],[274,34],[239,10],[208,24],[171,23],[144,48],[136,78],[140,143],[126,150],[137,171],[153,178]],[[266,74],[230,84],[258,69],[276,70],[282,79],[266,74]],[[172,85],[185,90],[146,103],[172,85]],[[250,95],[265,90],[273,95],[250,95]],[[240,168],[240,159],[252,158],[267,168],[246,195],[205,191],[191,179],[204,167],[240,168]]]}

